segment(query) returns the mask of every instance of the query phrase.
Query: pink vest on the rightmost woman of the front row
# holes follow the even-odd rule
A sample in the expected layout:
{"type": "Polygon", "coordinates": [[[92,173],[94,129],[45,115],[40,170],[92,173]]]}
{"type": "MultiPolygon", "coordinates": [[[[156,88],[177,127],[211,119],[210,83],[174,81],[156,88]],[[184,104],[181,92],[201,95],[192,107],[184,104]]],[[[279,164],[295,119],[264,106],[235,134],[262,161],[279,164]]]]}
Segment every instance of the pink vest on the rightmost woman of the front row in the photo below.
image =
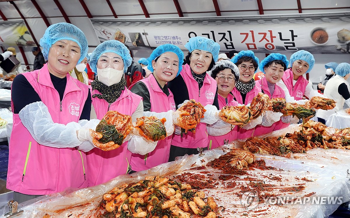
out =
{"type": "Polygon", "coordinates": [[[294,97],[295,100],[303,99],[306,85],[309,83],[306,78],[299,76],[295,85],[293,86],[293,71],[292,68],[289,68],[283,74],[282,81],[285,83],[290,96],[294,97]]]}

